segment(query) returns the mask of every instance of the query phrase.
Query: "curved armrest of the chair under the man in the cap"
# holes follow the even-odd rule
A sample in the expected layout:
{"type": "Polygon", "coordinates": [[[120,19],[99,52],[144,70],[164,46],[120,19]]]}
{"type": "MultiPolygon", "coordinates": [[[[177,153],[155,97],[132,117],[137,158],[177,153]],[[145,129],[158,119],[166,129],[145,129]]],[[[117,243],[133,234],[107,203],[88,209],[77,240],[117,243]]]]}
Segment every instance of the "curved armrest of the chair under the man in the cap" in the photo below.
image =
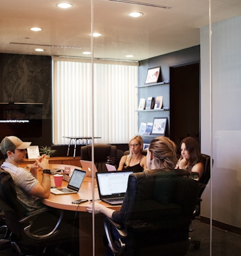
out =
{"type": "Polygon", "coordinates": [[[42,234],[43,232],[41,232],[41,234],[37,234],[37,232],[34,232],[34,231],[31,232],[31,226],[33,225],[33,217],[40,216],[40,214],[46,213],[48,211],[52,211],[52,209],[51,208],[42,208],[40,210],[31,212],[30,214],[28,214],[28,216],[25,216],[19,220],[20,224],[27,224],[27,226],[25,226],[25,228],[23,230],[24,230],[25,234],[28,235],[28,237],[35,238],[35,239],[36,238],[43,239],[43,238],[50,237],[50,236],[57,234],[57,232],[58,232],[57,228],[60,225],[60,222],[63,217],[63,210],[59,211],[60,214],[58,216],[58,220],[55,223],[54,228],[50,232],[46,232],[45,234],[42,234]]]}

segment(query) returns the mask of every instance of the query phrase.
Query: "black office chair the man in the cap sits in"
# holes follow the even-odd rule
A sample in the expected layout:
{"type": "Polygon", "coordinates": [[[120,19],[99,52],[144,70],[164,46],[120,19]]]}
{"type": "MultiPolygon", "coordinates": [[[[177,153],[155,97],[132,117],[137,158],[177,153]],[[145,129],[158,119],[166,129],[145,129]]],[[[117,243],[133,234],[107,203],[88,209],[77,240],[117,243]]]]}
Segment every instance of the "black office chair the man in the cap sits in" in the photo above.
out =
{"type": "Polygon", "coordinates": [[[17,199],[13,179],[7,171],[0,171],[0,205],[5,215],[8,240],[17,254],[26,255],[40,248],[44,253],[47,243],[59,232],[57,228],[63,211],[53,213],[51,208],[46,207],[27,213],[17,199]]]}

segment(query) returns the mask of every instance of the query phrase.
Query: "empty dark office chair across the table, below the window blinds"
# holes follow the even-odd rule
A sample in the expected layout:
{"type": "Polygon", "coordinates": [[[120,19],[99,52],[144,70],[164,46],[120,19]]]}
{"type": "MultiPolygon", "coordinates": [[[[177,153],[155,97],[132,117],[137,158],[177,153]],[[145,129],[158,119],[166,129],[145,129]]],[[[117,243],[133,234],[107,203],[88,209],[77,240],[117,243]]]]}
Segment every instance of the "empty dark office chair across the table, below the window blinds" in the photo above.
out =
{"type": "MultiPolygon", "coordinates": [[[[80,149],[82,160],[92,161],[92,145],[82,146],[80,149]]],[[[99,172],[106,172],[105,163],[114,165],[116,163],[117,149],[110,144],[94,144],[95,166],[99,172]]]]}

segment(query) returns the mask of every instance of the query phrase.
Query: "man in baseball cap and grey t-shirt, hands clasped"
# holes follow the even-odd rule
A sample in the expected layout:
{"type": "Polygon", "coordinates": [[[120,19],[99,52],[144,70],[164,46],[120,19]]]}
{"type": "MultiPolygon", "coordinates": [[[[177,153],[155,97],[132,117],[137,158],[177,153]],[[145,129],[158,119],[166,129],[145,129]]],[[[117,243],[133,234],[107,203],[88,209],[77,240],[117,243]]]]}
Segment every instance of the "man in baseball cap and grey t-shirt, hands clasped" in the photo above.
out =
{"type": "Polygon", "coordinates": [[[5,158],[1,167],[11,174],[17,198],[23,203],[27,211],[36,210],[36,208],[43,206],[39,199],[48,198],[51,187],[49,163],[45,155],[36,159],[30,171],[18,166],[25,159],[27,147],[30,144],[31,142],[23,142],[16,136],[6,136],[2,139],[0,146],[5,158]],[[43,170],[41,183],[37,180],[38,168],[43,170]]]}

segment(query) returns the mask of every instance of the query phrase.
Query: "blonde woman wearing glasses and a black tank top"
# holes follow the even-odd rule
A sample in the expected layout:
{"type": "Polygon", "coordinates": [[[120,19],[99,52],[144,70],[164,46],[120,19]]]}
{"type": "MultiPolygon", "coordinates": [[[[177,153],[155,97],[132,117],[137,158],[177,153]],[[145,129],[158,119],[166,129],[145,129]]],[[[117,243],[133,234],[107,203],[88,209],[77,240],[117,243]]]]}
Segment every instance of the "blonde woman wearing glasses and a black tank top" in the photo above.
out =
{"type": "Polygon", "coordinates": [[[131,170],[134,173],[146,170],[146,156],[143,155],[143,139],[141,136],[134,136],[129,142],[130,154],[122,156],[117,170],[131,170]]]}

